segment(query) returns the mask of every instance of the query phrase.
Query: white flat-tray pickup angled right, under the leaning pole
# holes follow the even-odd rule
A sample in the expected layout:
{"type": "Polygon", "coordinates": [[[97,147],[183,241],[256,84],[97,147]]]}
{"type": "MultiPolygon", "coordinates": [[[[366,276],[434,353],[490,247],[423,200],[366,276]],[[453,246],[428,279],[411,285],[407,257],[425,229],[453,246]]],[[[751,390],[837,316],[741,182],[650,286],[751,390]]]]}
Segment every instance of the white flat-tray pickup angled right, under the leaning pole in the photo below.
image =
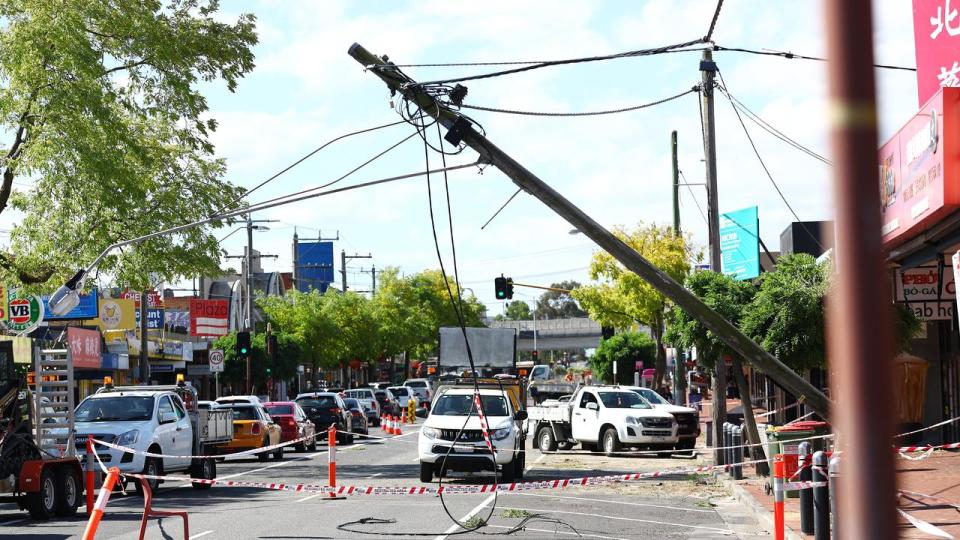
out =
{"type": "Polygon", "coordinates": [[[670,413],[617,386],[583,386],[570,400],[548,400],[527,411],[533,446],[540,450],[580,443],[609,456],[623,447],[673,448],[678,441],[677,421],[670,413]]]}

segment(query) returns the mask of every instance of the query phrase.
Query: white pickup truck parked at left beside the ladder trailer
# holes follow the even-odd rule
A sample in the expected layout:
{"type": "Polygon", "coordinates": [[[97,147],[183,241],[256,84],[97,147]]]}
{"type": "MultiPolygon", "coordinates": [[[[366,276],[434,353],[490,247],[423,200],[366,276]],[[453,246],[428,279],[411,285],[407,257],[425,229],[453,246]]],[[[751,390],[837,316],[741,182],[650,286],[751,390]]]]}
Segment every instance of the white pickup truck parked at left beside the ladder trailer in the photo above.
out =
{"type": "MultiPolygon", "coordinates": [[[[233,437],[230,410],[200,410],[196,391],[184,385],[107,386],[80,402],[75,416],[80,452],[87,435],[93,435],[94,439],[140,452],[182,456],[161,459],[98,445],[100,460],[125,473],[162,476],[182,471],[193,478],[213,480],[217,477],[215,459],[191,456],[215,454],[212,446],[233,437]]],[[[158,480],[148,482],[151,490],[160,484],[158,480]]],[[[140,483],[135,484],[140,492],[140,483]]],[[[210,484],[195,483],[193,487],[206,489],[210,484]]]]}

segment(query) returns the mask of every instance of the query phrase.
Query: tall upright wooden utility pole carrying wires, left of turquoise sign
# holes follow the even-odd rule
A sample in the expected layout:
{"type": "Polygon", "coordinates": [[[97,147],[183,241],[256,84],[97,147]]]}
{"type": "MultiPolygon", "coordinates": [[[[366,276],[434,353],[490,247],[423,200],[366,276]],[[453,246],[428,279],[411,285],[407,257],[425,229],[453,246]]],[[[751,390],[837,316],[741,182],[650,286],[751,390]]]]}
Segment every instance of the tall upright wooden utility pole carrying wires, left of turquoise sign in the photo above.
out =
{"type": "MultiPolygon", "coordinates": [[[[703,77],[703,151],[707,162],[707,229],[710,239],[710,270],[720,272],[723,269],[720,255],[720,210],[717,200],[717,133],[713,118],[713,78],[717,65],[713,62],[713,52],[703,51],[700,60],[700,73],[703,77]]],[[[717,448],[723,446],[723,424],[727,421],[727,365],[723,358],[713,358],[713,442],[717,448]]],[[[748,398],[749,399],[749,398],[748,398]]],[[[713,453],[714,463],[723,465],[724,453],[713,453]]]]}

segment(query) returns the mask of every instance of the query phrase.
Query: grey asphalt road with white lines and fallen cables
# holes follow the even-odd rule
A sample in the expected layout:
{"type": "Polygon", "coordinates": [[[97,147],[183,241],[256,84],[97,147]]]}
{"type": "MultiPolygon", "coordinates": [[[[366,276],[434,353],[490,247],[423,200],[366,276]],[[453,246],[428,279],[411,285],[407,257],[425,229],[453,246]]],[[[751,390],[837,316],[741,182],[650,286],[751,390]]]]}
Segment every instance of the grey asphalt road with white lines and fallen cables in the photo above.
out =
{"type": "MultiPolygon", "coordinates": [[[[379,431],[375,431],[379,434],[379,431]]],[[[575,478],[624,471],[690,467],[690,459],[638,456],[607,458],[583,452],[541,455],[529,449],[526,480],[575,478]]],[[[328,456],[285,454],[282,461],[230,459],[218,464],[219,479],[287,484],[325,484],[328,456]]],[[[340,485],[420,486],[416,432],[389,440],[367,440],[337,452],[340,485]]],[[[187,510],[190,538],[767,538],[739,505],[732,503],[706,476],[539,490],[523,493],[448,494],[446,511],[436,495],[352,496],[214,486],[199,491],[188,485],[164,484],[154,508],[187,510]],[[456,534],[450,515],[466,522],[486,521],[480,531],[456,534]],[[523,528],[516,530],[518,525],[523,528]]],[[[492,481],[489,474],[454,474],[452,484],[492,481]]],[[[0,505],[0,537],[61,539],[79,537],[86,524],[83,509],[74,519],[31,521],[13,505],[0,505]]],[[[115,493],[97,538],[138,537],[143,500],[115,493]]],[[[152,518],[146,538],[183,538],[180,518],[152,518]]]]}

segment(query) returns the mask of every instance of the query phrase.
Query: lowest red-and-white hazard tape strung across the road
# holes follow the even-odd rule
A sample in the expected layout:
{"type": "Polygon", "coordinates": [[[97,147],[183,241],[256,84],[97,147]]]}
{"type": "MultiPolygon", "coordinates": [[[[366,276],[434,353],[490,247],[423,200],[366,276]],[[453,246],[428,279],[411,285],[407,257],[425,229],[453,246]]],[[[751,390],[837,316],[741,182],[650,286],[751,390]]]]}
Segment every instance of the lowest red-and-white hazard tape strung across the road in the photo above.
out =
{"type": "Polygon", "coordinates": [[[361,495],[436,495],[444,494],[473,494],[504,491],[534,491],[544,489],[564,489],[577,486],[595,486],[611,483],[630,482],[648,478],[661,478],[678,474],[695,474],[708,471],[725,470],[734,465],[750,465],[765,460],[751,460],[727,465],[705,465],[682,469],[667,469],[654,472],[635,472],[604,476],[584,476],[579,478],[560,478],[554,480],[538,480],[532,482],[512,482],[509,484],[465,484],[433,486],[323,486],[318,484],[289,484],[282,482],[244,482],[240,480],[207,480],[203,478],[188,478],[183,476],[157,476],[148,474],[127,473],[130,478],[147,478],[164,480],[167,482],[193,482],[220,487],[244,487],[265,489],[271,491],[288,491],[293,493],[333,493],[343,496],[361,495]]]}

